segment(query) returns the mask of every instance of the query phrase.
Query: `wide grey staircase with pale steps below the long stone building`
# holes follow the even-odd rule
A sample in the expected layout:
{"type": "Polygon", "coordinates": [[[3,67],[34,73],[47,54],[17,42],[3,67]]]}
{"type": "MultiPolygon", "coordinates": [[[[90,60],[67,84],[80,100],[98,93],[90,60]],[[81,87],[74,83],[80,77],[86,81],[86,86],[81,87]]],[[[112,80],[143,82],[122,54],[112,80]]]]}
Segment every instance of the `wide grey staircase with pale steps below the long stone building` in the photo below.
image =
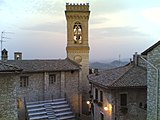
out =
{"type": "Polygon", "coordinates": [[[75,120],[65,98],[26,103],[28,120],[75,120]]]}

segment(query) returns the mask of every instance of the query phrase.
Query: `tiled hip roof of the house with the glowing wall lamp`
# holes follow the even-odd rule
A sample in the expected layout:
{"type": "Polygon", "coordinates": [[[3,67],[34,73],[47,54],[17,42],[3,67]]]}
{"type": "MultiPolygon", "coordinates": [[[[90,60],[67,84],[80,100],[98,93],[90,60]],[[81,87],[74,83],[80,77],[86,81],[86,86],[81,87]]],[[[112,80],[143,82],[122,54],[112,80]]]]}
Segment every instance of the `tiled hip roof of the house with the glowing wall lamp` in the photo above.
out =
{"type": "Polygon", "coordinates": [[[106,87],[142,87],[147,85],[147,71],[134,65],[126,65],[99,72],[99,75],[90,74],[90,82],[106,87]]]}

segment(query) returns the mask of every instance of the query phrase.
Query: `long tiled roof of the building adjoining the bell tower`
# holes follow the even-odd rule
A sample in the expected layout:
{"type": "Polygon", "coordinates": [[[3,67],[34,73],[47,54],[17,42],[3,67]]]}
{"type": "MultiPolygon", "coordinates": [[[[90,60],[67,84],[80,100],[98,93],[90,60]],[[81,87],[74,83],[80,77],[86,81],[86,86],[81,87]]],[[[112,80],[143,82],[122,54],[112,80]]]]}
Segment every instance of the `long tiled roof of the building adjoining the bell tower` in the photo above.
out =
{"type": "Polygon", "coordinates": [[[7,64],[18,66],[24,72],[79,70],[79,64],[69,60],[8,60],[7,64]]]}

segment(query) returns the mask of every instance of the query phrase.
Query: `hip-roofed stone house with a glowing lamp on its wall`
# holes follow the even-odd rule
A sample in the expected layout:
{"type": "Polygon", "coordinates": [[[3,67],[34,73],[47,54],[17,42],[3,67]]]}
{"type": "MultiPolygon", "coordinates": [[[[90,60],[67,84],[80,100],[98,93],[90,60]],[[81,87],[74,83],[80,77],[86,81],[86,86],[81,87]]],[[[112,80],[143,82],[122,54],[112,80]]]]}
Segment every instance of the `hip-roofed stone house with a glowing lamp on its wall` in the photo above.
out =
{"type": "Polygon", "coordinates": [[[93,120],[146,120],[147,71],[140,55],[125,66],[95,71],[88,79],[93,120]]]}

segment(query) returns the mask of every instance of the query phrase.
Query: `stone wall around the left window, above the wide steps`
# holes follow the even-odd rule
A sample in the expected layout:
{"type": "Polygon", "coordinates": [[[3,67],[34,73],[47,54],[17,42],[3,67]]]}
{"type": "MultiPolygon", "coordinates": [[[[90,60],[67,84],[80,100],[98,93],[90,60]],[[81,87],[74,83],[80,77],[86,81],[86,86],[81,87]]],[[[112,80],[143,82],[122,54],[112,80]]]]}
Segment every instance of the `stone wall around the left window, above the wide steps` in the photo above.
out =
{"type": "Polygon", "coordinates": [[[17,98],[25,100],[27,102],[43,100],[44,89],[44,77],[43,73],[24,73],[20,74],[17,81],[17,98]],[[28,86],[20,87],[20,77],[28,76],[28,86]]]}

